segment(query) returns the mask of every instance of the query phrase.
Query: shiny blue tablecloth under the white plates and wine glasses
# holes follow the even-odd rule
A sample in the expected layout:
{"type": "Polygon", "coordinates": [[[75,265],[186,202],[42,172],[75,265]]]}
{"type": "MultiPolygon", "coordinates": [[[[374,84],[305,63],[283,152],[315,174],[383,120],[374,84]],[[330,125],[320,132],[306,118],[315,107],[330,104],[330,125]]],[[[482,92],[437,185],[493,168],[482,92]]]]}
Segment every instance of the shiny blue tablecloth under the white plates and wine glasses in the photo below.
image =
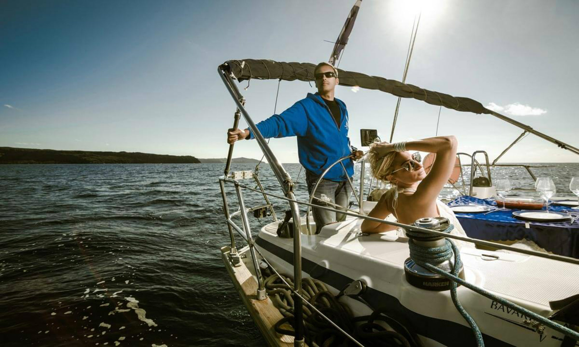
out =
{"type": "MultiPolygon", "coordinates": [[[[449,206],[466,204],[497,205],[494,199],[474,197],[458,197],[448,203],[449,206]]],[[[568,211],[569,209],[566,206],[549,206],[549,211],[568,211]]],[[[579,220],[574,223],[570,223],[570,221],[530,222],[516,219],[512,216],[513,211],[520,210],[494,211],[486,215],[483,213],[456,213],[456,217],[469,237],[500,241],[525,238],[534,241],[549,252],[579,258],[579,220]],[[527,228],[526,225],[529,227],[527,228]]]]}

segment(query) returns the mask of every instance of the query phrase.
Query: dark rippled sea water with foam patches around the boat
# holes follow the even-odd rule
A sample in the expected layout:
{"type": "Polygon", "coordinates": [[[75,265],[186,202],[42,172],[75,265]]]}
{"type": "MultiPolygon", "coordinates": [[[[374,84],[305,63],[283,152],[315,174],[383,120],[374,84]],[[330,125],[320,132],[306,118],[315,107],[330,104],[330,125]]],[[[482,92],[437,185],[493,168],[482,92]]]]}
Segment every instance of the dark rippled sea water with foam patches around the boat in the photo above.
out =
{"type": "MultiPolygon", "coordinates": [[[[579,164],[545,165],[536,176],[571,195],[579,164]]],[[[284,167],[307,201],[301,165],[284,167]]],[[[0,165],[2,346],[266,345],[222,264],[222,174],[222,164],[0,165]]],[[[492,174],[533,187],[524,168],[492,174]]],[[[269,165],[259,176],[282,194],[269,165]]],[[[287,203],[271,199],[283,217],[287,203]]],[[[250,216],[254,235],[269,221],[250,216]]]]}

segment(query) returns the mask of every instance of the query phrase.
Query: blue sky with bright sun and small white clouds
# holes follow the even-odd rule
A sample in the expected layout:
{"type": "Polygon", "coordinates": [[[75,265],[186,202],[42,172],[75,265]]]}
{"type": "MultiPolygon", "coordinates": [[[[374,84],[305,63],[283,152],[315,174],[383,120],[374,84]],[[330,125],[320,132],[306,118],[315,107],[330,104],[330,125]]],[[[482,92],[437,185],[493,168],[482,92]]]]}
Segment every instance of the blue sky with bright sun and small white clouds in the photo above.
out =
{"type": "MultiPolygon", "coordinates": [[[[400,80],[416,8],[364,0],[340,68],[400,80]]],[[[579,2],[431,1],[423,9],[408,83],[477,99],[579,147],[579,2]],[[492,104],[491,104],[492,103],[492,104]]],[[[0,12],[0,146],[225,157],[235,106],[217,66],[268,58],[327,61],[354,0],[5,1],[0,12]]],[[[274,112],[277,81],[254,80],[247,109],[274,112]]],[[[281,82],[277,112],[315,89],[281,82]]],[[[338,87],[350,137],[389,138],[396,98],[338,87]]],[[[402,99],[394,140],[436,132],[438,107],[402,99]]],[[[245,126],[241,121],[241,127],[245,126]]],[[[442,109],[438,134],[491,160],[522,130],[492,116],[442,109]]],[[[295,138],[272,139],[295,163],[295,138]]],[[[234,156],[261,157],[255,142],[234,156]]],[[[501,162],[577,162],[528,135],[501,162]]]]}

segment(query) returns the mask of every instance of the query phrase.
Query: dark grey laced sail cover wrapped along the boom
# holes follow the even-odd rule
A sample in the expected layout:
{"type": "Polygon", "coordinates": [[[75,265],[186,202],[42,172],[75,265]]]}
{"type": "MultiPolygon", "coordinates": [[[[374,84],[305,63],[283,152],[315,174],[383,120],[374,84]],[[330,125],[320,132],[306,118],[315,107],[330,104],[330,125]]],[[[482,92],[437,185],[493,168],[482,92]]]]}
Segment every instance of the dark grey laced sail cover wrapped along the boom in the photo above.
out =
{"type": "MultiPolygon", "coordinates": [[[[314,80],[315,67],[316,64],[309,62],[278,62],[266,59],[228,60],[223,64],[223,68],[228,69],[232,77],[239,80],[239,82],[249,79],[281,79],[310,82],[314,80]]],[[[442,105],[445,108],[461,112],[494,113],[476,100],[453,97],[449,94],[427,90],[397,80],[369,76],[364,75],[364,73],[342,69],[338,69],[338,76],[340,86],[357,86],[365,89],[380,90],[397,97],[415,98],[431,105],[442,105]]]]}

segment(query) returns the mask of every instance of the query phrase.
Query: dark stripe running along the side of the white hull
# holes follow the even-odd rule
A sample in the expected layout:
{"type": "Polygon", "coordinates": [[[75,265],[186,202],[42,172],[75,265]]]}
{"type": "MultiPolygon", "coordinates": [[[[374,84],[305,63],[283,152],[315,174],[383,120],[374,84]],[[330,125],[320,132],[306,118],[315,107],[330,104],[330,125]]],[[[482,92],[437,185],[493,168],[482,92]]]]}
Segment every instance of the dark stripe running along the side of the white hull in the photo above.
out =
{"type": "MultiPolygon", "coordinates": [[[[273,243],[267,242],[265,239],[256,238],[257,243],[261,248],[270,253],[275,254],[280,259],[291,265],[294,265],[294,253],[280,248],[273,243]]],[[[356,279],[351,279],[345,275],[321,267],[311,260],[302,257],[302,271],[309,274],[312,278],[321,280],[336,289],[342,289],[356,279]]],[[[291,274],[293,275],[293,274],[291,274]]],[[[459,323],[451,322],[444,319],[436,319],[428,316],[420,315],[414,311],[409,310],[400,304],[397,298],[383,293],[382,291],[368,287],[366,293],[362,294],[362,298],[368,301],[374,309],[387,308],[388,314],[404,324],[411,327],[417,334],[434,339],[448,347],[465,347],[476,346],[477,343],[474,334],[470,327],[463,326],[459,323]]],[[[485,346],[487,347],[509,347],[513,346],[507,342],[483,334],[485,346]]]]}

